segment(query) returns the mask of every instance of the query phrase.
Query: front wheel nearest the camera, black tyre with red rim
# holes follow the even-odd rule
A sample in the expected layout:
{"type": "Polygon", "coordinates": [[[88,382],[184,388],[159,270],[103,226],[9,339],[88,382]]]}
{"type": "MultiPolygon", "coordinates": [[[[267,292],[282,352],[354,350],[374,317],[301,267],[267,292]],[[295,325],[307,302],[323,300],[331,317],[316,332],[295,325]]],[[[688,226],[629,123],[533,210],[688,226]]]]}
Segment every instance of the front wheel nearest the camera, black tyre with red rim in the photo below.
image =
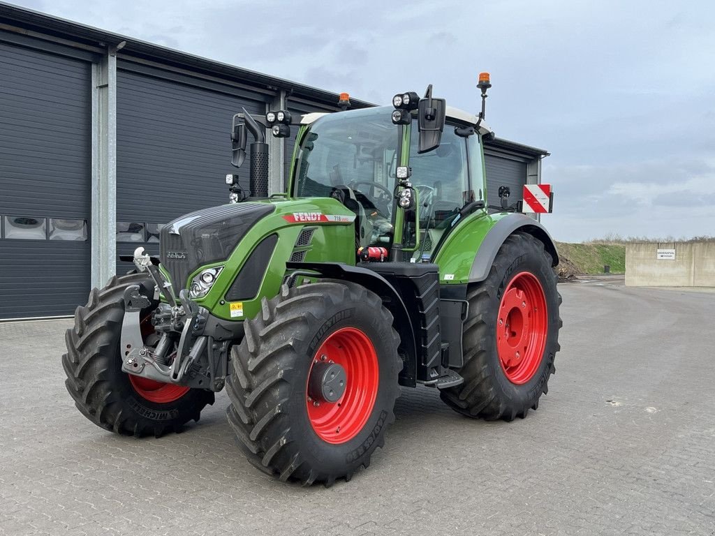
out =
{"type": "Polygon", "coordinates": [[[385,442],[400,338],[377,294],[317,282],[264,299],[232,348],[227,417],[249,460],[280,480],[350,480],[385,442]]]}

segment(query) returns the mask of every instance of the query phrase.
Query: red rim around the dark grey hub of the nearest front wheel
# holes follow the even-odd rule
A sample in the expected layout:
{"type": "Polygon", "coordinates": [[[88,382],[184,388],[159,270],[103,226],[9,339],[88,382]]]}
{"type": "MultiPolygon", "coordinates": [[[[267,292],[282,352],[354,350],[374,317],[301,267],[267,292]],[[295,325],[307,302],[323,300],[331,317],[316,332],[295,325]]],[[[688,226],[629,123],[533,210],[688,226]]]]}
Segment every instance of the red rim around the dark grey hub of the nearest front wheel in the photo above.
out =
{"type": "Polygon", "coordinates": [[[330,334],[315,352],[309,379],[313,366],[321,361],[334,362],[345,369],[345,392],[332,403],[307,394],[308,419],[320,439],[337,445],[358,435],[373,412],[380,379],[378,354],[360,329],[343,327],[330,334]]]}

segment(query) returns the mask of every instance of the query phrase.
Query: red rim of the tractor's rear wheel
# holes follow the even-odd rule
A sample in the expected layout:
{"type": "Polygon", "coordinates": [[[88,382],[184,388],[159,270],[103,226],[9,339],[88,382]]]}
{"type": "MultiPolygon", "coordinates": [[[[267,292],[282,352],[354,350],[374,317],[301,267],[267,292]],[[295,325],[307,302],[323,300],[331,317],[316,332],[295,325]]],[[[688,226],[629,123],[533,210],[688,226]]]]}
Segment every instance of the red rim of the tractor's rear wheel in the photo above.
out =
{"type": "Polygon", "coordinates": [[[516,274],[499,304],[496,349],[506,377],[521,385],[533,378],[548,334],[546,295],[534,274],[516,274]]]}

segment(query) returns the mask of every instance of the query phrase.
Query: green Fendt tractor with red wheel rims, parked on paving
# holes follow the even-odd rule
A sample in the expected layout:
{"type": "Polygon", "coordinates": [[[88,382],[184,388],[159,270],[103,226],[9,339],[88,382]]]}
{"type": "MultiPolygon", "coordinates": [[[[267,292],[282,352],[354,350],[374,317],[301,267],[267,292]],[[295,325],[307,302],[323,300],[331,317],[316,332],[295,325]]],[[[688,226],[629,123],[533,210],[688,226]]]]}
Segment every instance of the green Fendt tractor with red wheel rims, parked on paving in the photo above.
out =
{"type": "MultiPolygon", "coordinates": [[[[554,372],[556,247],[486,202],[478,116],[414,92],[393,106],[237,114],[250,192],[162,228],[159,259],[92,289],[66,332],[66,387],[121,435],[178,431],[224,387],[238,443],[281,480],[349,480],[384,444],[400,386],[468,417],[538,407],[554,372]],[[298,126],[287,192],[269,195],[267,132],[298,126]]],[[[245,111],[245,110],[244,110],[245,111]]]]}

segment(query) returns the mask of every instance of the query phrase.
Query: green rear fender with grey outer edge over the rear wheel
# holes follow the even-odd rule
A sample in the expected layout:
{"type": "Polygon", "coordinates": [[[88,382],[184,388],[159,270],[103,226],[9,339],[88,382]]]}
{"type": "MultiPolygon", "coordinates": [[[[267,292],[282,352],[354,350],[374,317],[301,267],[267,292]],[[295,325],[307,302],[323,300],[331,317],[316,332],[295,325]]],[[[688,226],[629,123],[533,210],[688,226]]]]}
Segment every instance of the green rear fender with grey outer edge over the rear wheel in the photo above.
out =
{"type": "Polygon", "coordinates": [[[552,265],[558,264],[556,244],[541,223],[524,214],[482,212],[460,222],[437,252],[434,262],[440,267],[440,283],[464,284],[486,279],[501,244],[515,232],[525,232],[540,240],[551,255],[552,265]]]}

